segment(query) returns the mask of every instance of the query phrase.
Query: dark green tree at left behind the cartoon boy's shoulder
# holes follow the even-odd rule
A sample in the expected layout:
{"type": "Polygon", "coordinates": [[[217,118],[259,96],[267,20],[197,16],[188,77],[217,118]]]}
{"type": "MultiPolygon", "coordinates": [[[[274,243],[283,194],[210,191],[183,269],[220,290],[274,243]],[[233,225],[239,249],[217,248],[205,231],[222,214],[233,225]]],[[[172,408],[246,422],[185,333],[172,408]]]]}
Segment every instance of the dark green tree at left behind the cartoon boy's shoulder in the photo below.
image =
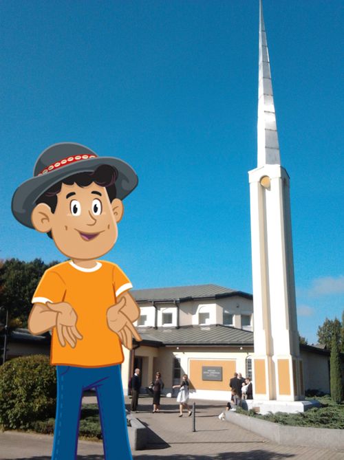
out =
{"type": "MultiPolygon", "coordinates": [[[[14,325],[27,326],[31,299],[41,276],[56,262],[45,264],[41,259],[31,262],[8,259],[0,266],[0,305],[8,308],[14,325]]],[[[3,319],[3,314],[0,319],[3,319]]]]}

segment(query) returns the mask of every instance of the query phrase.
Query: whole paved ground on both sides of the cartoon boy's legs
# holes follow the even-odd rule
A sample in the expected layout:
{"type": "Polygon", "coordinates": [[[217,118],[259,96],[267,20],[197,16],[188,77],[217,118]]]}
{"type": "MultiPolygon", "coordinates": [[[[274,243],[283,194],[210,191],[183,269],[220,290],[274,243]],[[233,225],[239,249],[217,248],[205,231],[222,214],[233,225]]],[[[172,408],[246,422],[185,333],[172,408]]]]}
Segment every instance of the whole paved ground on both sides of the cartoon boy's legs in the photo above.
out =
{"type": "MultiPolygon", "coordinates": [[[[87,402],[94,401],[87,399],[87,402]]],[[[175,399],[162,398],[162,412],[153,414],[151,398],[140,398],[140,412],[136,417],[149,428],[149,446],[147,450],[133,452],[133,459],[344,460],[344,452],[280,446],[227,421],[221,421],[217,418],[223,407],[219,402],[202,401],[196,404],[196,432],[193,432],[192,417],[178,418],[175,399]]],[[[0,433],[0,460],[50,460],[51,448],[51,436],[0,433]]],[[[78,460],[103,458],[101,443],[79,441],[78,460]]]]}

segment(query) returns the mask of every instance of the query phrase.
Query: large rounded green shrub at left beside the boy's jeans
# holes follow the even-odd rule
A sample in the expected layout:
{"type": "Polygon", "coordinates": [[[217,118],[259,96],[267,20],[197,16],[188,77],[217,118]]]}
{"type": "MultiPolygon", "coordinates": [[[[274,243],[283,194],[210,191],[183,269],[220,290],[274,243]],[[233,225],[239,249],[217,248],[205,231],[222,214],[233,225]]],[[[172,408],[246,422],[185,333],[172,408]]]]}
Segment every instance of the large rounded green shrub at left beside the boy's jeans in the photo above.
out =
{"type": "Polygon", "coordinates": [[[15,358],[0,367],[0,425],[30,428],[37,420],[54,417],[56,376],[43,355],[15,358]]]}

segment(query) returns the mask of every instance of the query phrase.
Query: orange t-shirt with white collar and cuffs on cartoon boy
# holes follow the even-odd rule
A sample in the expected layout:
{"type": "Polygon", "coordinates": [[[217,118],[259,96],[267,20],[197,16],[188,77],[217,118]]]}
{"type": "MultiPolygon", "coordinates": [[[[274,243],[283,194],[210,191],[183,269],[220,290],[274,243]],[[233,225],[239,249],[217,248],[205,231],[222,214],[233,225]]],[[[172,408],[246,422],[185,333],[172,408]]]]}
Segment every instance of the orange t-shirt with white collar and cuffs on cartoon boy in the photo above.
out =
{"type": "Polygon", "coordinates": [[[123,362],[122,344],[107,326],[107,309],[132,285],[118,265],[97,261],[91,269],[72,261],[54,265],[43,274],[32,303],[67,302],[76,311],[76,328],[83,336],[76,347],[62,347],[52,330],[50,364],[101,367],[123,362]]]}

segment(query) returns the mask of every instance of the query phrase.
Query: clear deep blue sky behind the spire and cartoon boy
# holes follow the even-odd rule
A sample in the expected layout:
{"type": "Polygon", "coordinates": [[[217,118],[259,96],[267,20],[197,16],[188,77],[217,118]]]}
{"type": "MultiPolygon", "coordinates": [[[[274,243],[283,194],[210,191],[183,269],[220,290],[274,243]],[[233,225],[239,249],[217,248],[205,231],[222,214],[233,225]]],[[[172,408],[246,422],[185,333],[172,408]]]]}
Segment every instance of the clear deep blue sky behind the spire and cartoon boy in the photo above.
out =
{"type": "MultiPolygon", "coordinates": [[[[343,310],[343,2],[265,0],[281,161],[291,179],[301,335],[343,310]]],[[[116,261],[137,288],[252,292],[258,0],[0,4],[1,258],[62,260],[10,211],[55,142],[137,171],[116,261]]]]}

